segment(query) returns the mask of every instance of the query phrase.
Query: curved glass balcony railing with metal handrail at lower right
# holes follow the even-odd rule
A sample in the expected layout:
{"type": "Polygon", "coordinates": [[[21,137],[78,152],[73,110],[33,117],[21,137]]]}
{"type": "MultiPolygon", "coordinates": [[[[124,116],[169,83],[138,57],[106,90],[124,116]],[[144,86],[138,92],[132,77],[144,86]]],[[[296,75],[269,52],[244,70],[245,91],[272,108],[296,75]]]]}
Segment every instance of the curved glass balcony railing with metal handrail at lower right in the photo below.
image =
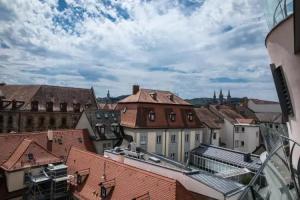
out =
{"type": "Polygon", "coordinates": [[[299,199],[300,144],[284,132],[264,128],[261,130],[267,151],[261,155],[263,164],[239,199],[299,199]]]}

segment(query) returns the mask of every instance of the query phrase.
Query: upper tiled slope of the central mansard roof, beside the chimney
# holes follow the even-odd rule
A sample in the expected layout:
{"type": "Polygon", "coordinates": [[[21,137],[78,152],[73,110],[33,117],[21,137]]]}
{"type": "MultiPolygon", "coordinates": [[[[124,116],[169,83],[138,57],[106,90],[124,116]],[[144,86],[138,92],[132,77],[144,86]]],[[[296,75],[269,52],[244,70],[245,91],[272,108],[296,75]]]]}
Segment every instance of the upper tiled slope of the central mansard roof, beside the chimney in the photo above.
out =
{"type": "Polygon", "coordinates": [[[169,91],[151,90],[151,89],[139,89],[136,94],[130,95],[125,99],[119,101],[119,103],[155,103],[155,104],[171,104],[171,105],[191,105],[184,101],[180,97],[174,95],[169,91]],[[155,93],[156,98],[152,98],[151,94],[155,93]],[[173,100],[170,96],[173,95],[173,100]]]}

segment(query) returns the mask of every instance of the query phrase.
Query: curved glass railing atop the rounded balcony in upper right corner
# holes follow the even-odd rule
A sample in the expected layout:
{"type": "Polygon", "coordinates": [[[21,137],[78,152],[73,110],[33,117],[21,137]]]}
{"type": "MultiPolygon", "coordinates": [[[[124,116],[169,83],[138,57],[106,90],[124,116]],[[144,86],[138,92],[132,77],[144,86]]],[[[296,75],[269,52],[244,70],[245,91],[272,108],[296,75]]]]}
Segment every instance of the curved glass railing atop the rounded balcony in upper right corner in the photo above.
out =
{"type": "Polygon", "coordinates": [[[265,17],[270,29],[293,13],[294,0],[264,0],[265,17]]]}

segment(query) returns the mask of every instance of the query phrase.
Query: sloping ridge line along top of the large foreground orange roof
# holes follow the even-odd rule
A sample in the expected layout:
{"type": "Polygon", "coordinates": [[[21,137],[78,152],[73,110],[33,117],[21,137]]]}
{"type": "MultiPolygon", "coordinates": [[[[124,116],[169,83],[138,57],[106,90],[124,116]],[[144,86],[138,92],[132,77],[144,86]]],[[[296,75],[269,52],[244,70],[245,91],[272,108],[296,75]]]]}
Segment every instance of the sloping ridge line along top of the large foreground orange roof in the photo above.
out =
{"type": "MultiPolygon", "coordinates": [[[[94,156],[94,157],[97,157],[97,158],[100,158],[100,159],[103,159],[103,160],[106,160],[108,162],[111,162],[111,163],[114,163],[114,164],[118,164],[118,165],[121,165],[123,167],[126,167],[126,168],[129,168],[129,169],[133,169],[133,170],[137,170],[143,174],[147,174],[147,175],[150,175],[150,176],[153,176],[153,177],[158,177],[158,178],[161,178],[161,179],[164,179],[166,181],[169,181],[170,183],[175,183],[176,182],[176,179],[172,179],[172,178],[169,178],[169,177],[166,177],[166,176],[163,176],[163,175],[160,175],[160,174],[157,174],[157,173],[154,173],[154,172],[149,172],[149,171],[146,171],[146,170],[142,170],[138,167],[134,167],[134,166],[131,166],[131,165],[127,165],[125,163],[121,163],[121,162],[118,162],[118,161],[115,161],[115,160],[112,160],[110,158],[106,158],[104,156],[101,156],[99,154],[96,154],[96,153],[93,153],[93,152],[90,152],[90,151],[84,151],[82,149],[79,149],[77,147],[74,147],[72,146],[70,148],[70,151],[69,153],[72,151],[72,149],[74,149],[75,151],[79,151],[79,152],[82,152],[82,153],[87,153],[87,154],[90,154],[91,156],[94,156]]],[[[70,155],[70,154],[69,154],[70,155]]],[[[69,157],[68,155],[68,157],[69,157]]],[[[67,159],[68,160],[68,159],[67,159]]]]}

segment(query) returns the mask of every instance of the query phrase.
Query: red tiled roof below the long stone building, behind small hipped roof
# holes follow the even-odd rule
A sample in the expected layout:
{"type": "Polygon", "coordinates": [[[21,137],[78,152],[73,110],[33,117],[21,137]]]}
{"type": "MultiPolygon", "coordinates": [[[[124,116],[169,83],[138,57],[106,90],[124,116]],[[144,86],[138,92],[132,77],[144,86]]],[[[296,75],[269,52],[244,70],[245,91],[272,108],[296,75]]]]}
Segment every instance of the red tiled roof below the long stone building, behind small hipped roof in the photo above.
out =
{"type": "MultiPolygon", "coordinates": [[[[53,141],[48,141],[47,132],[0,134],[0,164],[6,162],[16,151],[24,139],[29,139],[42,146],[55,156],[65,159],[69,149],[74,146],[79,149],[95,152],[93,143],[86,130],[56,130],[53,131],[53,141]],[[81,139],[79,139],[81,138],[81,139]]],[[[25,146],[26,142],[23,143],[25,146]]]]}

